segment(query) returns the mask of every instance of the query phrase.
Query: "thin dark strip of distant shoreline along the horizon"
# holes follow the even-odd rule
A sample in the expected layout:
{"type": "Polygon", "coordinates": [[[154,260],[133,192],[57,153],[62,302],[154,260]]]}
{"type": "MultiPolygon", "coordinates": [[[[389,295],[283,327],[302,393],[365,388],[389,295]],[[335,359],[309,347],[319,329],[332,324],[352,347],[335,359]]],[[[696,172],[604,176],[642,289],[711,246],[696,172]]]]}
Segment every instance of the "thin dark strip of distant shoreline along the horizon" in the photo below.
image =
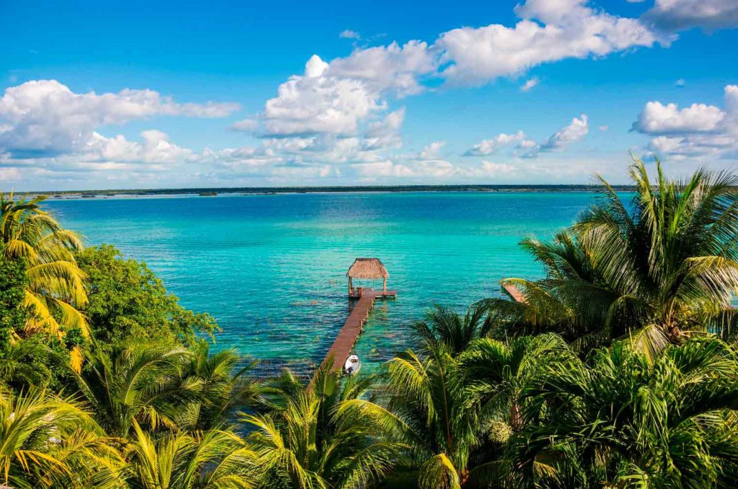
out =
{"type": "MultiPolygon", "coordinates": [[[[633,190],[630,185],[615,185],[618,192],[633,190]]],[[[18,195],[49,195],[50,198],[109,198],[193,195],[275,195],[292,193],[407,193],[407,192],[476,192],[476,193],[551,193],[592,192],[601,190],[596,185],[370,185],[350,187],[204,187],[181,189],[121,189],[121,190],[51,190],[18,192],[18,195]]]]}

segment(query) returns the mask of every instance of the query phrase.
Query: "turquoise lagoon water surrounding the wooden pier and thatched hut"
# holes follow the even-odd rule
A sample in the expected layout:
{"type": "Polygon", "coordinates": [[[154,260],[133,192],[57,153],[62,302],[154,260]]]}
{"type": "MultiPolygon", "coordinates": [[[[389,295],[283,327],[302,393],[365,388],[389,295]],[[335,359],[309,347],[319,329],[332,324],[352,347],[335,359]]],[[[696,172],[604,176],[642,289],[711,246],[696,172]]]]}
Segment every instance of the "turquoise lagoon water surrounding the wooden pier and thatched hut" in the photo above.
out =
{"type": "MultiPolygon", "coordinates": [[[[310,193],[49,201],[88,244],[144,260],[182,304],[271,370],[319,362],[348,316],[348,266],[379,257],[395,300],[378,302],[356,350],[376,364],[407,346],[433,304],[460,311],[502,277],[539,277],[517,246],[549,237],[590,193],[310,193]]],[[[381,287],[382,282],[358,285],[381,287]]]]}

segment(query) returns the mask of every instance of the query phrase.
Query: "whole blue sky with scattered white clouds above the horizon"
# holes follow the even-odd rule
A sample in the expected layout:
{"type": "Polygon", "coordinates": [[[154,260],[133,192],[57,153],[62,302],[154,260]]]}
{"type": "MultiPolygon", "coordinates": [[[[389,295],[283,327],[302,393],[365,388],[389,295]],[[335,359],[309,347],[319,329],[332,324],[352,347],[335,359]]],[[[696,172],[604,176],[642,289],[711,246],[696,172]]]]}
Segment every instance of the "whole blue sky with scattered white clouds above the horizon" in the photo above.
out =
{"type": "Polygon", "coordinates": [[[738,1],[0,0],[4,191],[738,169],[738,1]]]}

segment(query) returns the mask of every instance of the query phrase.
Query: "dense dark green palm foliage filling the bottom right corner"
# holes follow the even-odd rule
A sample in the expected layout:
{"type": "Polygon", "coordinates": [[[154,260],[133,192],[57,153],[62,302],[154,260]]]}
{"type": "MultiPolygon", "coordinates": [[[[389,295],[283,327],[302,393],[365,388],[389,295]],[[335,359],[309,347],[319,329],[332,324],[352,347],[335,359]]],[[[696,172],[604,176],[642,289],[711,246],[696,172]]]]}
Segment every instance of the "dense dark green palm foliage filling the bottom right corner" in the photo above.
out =
{"type": "Polygon", "coordinates": [[[736,352],[718,339],[666,347],[653,363],[617,342],[587,362],[548,364],[511,439],[513,485],[734,487],[736,372],[736,352]]]}

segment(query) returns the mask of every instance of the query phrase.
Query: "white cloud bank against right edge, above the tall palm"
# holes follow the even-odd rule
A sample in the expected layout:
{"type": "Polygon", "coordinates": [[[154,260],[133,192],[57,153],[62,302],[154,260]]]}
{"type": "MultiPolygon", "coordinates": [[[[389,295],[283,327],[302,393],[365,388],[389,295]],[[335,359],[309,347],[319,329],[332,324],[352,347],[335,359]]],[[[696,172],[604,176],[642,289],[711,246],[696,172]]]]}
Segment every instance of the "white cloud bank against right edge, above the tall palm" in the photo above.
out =
{"type": "Polygon", "coordinates": [[[646,103],[632,129],[655,136],[648,150],[674,159],[738,158],[738,86],[725,86],[725,108],[646,103]]]}

